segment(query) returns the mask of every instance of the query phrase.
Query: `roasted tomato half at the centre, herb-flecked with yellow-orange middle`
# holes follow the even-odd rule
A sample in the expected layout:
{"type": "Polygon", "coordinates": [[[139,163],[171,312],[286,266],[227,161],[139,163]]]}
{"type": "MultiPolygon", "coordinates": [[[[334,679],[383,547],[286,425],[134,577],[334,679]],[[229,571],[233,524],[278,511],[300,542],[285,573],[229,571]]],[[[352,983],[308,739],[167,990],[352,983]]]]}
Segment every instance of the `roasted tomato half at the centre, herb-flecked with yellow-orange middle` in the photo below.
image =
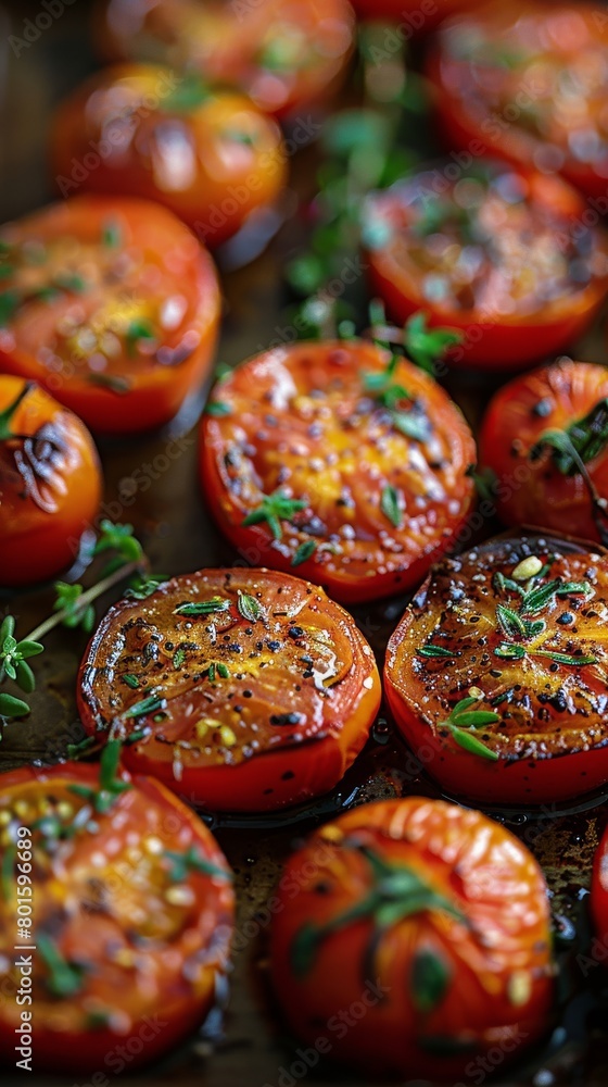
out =
{"type": "Polygon", "coordinates": [[[241,554],[296,567],[339,600],[416,585],[472,500],[458,408],[363,340],[249,360],[216,386],[201,437],[207,501],[241,554]]]}

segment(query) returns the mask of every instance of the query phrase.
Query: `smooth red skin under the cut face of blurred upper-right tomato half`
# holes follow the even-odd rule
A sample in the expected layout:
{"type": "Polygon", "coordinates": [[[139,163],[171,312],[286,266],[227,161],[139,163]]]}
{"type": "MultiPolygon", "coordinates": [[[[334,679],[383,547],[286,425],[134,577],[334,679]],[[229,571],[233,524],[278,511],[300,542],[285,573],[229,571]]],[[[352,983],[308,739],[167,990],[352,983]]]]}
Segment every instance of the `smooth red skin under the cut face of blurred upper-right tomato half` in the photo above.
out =
{"type": "MultiPolygon", "coordinates": [[[[460,175],[466,170],[456,167],[460,175]]],[[[585,211],[583,198],[559,177],[549,177],[518,167],[518,174],[529,186],[530,200],[540,208],[554,209],[563,216],[562,233],[572,229],[585,211]]],[[[432,177],[429,172],[429,177],[432,177]]],[[[438,199],[435,195],[435,199],[438,199]]],[[[407,215],[397,193],[391,190],[371,198],[382,217],[397,233],[407,226],[407,215]]],[[[606,238],[597,235],[606,252],[606,238]]],[[[534,361],[565,350],[588,328],[596,316],[607,289],[606,272],[570,297],[560,297],[533,314],[495,315],[480,309],[458,310],[445,303],[432,302],[421,291],[421,278],[400,264],[391,245],[366,251],[371,289],[385,303],[389,315],[404,324],[423,309],[431,328],[448,325],[463,334],[463,342],[449,349],[449,366],[479,370],[521,370],[534,361]]]]}

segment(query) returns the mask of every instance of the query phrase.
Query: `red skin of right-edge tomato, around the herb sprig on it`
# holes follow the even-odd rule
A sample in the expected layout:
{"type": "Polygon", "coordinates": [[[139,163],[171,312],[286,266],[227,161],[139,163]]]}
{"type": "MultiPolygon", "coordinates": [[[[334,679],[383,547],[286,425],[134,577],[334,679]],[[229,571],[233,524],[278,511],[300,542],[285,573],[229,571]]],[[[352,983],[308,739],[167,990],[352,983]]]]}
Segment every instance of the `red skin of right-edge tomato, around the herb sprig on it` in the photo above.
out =
{"type": "MultiPolygon", "coordinates": [[[[583,477],[565,475],[550,455],[530,459],[545,430],[567,429],[608,397],[608,370],[561,359],[515,378],[491,400],[480,432],[480,463],[497,477],[496,509],[508,525],[537,525],[600,541],[583,477]],[[541,405],[543,414],[535,413],[541,405]]],[[[597,492],[608,493],[608,450],[587,464],[597,492]]]]}

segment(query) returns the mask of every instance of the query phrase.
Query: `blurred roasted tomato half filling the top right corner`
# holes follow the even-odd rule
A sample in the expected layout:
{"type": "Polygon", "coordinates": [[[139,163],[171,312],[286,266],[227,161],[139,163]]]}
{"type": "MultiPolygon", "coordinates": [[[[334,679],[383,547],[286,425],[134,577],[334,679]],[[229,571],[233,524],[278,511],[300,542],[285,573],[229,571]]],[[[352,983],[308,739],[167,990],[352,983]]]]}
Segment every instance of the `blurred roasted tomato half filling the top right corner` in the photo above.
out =
{"type": "Polygon", "coordinates": [[[496,2],[442,27],[431,53],[451,148],[561,173],[608,211],[608,17],[597,4],[496,2]]]}

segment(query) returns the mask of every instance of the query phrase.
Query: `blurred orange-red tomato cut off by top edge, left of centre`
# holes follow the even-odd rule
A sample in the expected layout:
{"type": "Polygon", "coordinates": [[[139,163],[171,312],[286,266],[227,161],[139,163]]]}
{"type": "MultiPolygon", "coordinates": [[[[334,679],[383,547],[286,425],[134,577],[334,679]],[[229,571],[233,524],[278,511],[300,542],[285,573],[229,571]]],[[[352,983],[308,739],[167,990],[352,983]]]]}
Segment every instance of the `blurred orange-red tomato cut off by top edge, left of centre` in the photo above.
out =
{"type": "Polygon", "coordinates": [[[337,89],[353,24],[346,0],[110,0],[96,36],[112,60],[162,59],[284,116],[337,89]]]}

